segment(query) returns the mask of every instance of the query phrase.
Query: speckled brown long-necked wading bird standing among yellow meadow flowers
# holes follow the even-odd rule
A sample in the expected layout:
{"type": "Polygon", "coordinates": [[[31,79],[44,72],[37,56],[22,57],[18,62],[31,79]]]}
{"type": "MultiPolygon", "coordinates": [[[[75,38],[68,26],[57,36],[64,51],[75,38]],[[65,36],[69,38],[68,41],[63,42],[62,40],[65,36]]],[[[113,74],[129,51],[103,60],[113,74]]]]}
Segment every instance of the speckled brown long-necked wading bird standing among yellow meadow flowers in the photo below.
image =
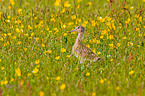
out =
{"type": "Polygon", "coordinates": [[[71,32],[78,32],[78,37],[72,47],[71,55],[74,54],[74,56],[79,59],[80,63],[84,63],[84,61],[95,62],[101,59],[100,57],[97,57],[96,54],[93,53],[88,47],[82,44],[85,33],[84,26],[77,26],[74,30],[69,31],[68,33],[71,32]]]}

